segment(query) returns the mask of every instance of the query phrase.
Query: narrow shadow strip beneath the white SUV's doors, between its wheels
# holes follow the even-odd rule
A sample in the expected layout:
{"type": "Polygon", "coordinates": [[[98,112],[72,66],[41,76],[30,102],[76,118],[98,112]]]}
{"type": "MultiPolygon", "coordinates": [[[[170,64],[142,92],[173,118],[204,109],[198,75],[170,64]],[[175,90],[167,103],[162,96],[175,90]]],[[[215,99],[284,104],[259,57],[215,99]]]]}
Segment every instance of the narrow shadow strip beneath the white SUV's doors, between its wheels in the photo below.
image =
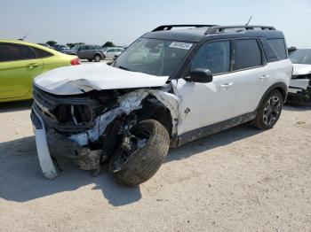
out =
{"type": "Polygon", "coordinates": [[[247,123],[235,128],[229,128],[219,133],[203,137],[194,142],[186,143],[179,148],[171,149],[169,155],[166,157],[166,162],[187,159],[203,151],[208,151],[230,143],[235,143],[235,141],[243,140],[246,137],[257,135],[260,132],[262,132],[262,130],[253,128],[247,123]]]}

